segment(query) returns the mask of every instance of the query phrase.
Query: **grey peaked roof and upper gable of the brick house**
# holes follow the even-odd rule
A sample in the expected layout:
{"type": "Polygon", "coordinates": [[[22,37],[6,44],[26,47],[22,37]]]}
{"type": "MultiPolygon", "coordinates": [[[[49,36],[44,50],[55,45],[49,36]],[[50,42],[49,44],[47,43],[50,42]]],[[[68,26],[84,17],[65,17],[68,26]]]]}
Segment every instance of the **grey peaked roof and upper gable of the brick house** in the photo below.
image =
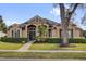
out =
{"type": "MultiPolygon", "coordinates": [[[[38,22],[39,23],[46,23],[46,24],[48,24],[50,26],[52,26],[52,25],[61,26],[61,23],[57,23],[54,21],[51,21],[51,20],[48,20],[48,18],[44,18],[44,17],[41,17],[39,15],[35,15],[34,17],[27,20],[25,23],[19,24],[19,27],[21,28],[21,27],[24,27],[26,24],[32,24],[32,23],[34,23],[34,24],[36,23],[37,24],[38,22]]],[[[71,26],[76,26],[73,22],[71,22],[70,25],[71,26]]],[[[10,27],[12,27],[12,26],[10,26],[10,27]]]]}

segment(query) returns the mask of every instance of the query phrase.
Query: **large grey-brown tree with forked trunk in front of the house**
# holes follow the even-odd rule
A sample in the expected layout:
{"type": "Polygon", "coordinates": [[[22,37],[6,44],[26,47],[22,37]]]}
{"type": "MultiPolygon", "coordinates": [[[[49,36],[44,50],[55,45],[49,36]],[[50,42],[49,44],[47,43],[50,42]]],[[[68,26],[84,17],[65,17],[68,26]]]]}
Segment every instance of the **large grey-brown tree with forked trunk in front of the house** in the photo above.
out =
{"type": "MultiPolygon", "coordinates": [[[[57,4],[54,4],[54,7],[57,7],[57,4]]],[[[70,8],[66,9],[64,3],[59,3],[61,26],[62,26],[62,39],[63,39],[60,46],[62,47],[69,46],[67,27],[72,18],[72,15],[75,13],[75,10],[77,9],[77,7],[78,7],[78,3],[71,3],[70,8]]]]}

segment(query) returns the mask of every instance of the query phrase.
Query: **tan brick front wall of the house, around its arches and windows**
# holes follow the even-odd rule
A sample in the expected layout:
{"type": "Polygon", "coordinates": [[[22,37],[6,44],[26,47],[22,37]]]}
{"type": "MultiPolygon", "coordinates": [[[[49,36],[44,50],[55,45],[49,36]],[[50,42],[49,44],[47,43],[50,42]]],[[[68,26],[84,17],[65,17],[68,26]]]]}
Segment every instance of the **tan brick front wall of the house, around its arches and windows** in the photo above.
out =
{"type": "MultiPolygon", "coordinates": [[[[36,26],[36,36],[39,36],[39,33],[38,33],[38,26],[40,26],[41,24],[44,24],[45,26],[47,26],[47,29],[49,29],[49,24],[45,23],[45,22],[36,22],[36,21],[32,21],[30,23],[26,24],[25,25],[25,29],[22,30],[22,28],[19,28],[17,25],[13,25],[9,30],[8,30],[8,37],[12,37],[12,30],[20,30],[20,38],[27,38],[27,27],[29,25],[35,25],[36,26]]],[[[62,29],[61,26],[57,26],[57,25],[53,25],[52,27],[52,38],[60,38],[60,29],[62,29]]],[[[69,29],[73,29],[73,38],[81,38],[81,34],[82,34],[82,30],[81,29],[77,29],[76,26],[73,26],[72,24],[69,26],[69,29]]],[[[46,37],[49,37],[48,36],[49,34],[47,34],[46,37]]]]}

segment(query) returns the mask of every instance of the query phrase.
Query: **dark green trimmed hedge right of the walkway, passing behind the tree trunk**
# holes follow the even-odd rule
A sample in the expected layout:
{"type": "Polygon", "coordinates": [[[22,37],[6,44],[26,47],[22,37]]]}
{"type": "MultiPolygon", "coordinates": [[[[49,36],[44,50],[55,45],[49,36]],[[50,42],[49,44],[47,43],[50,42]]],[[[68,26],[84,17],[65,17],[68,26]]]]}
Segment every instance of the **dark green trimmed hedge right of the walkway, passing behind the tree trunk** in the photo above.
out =
{"type": "MultiPolygon", "coordinates": [[[[41,38],[41,39],[44,39],[45,41],[36,41],[36,43],[61,43],[62,42],[62,39],[60,39],[60,38],[41,38]]],[[[69,39],[69,42],[70,43],[86,43],[86,39],[85,38],[70,38],[69,39]]]]}

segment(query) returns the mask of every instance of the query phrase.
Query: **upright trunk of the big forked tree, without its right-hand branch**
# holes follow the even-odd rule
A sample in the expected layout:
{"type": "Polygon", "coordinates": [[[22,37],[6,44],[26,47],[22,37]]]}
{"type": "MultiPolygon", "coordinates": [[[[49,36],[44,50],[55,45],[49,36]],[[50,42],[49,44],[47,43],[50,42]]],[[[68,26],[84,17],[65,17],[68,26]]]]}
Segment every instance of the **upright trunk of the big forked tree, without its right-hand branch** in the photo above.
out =
{"type": "Polygon", "coordinates": [[[65,8],[63,3],[60,3],[60,15],[61,15],[61,26],[62,26],[62,42],[61,47],[66,47],[69,46],[67,41],[67,25],[66,25],[66,17],[65,17],[65,8]]]}

